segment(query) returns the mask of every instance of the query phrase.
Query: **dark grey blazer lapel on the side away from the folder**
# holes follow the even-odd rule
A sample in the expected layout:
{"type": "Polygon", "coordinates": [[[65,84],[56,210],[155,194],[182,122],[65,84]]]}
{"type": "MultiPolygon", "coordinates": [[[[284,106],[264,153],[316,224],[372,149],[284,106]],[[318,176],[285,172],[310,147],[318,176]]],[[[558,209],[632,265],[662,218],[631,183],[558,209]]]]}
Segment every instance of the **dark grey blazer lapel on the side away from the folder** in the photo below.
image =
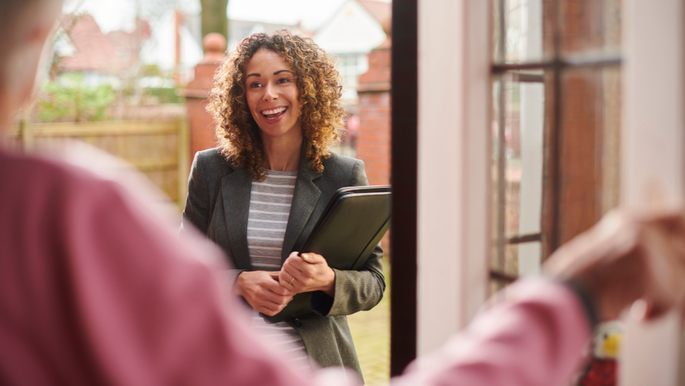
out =
{"type": "Polygon", "coordinates": [[[239,267],[250,267],[248,250],[248,215],[250,214],[250,194],[252,192],[252,175],[245,167],[235,168],[233,173],[221,179],[223,210],[226,219],[226,231],[230,251],[235,264],[239,267]]]}

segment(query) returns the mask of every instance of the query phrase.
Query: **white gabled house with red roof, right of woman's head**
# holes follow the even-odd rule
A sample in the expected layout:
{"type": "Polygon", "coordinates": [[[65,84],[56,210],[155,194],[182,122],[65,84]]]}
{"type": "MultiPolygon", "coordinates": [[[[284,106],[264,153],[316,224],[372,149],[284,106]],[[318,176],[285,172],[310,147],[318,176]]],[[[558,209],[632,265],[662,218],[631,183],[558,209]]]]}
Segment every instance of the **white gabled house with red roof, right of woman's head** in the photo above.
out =
{"type": "Polygon", "coordinates": [[[359,75],[369,69],[367,54],[387,38],[391,7],[385,1],[347,0],[313,36],[321,48],[338,56],[348,104],[357,104],[359,75]]]}

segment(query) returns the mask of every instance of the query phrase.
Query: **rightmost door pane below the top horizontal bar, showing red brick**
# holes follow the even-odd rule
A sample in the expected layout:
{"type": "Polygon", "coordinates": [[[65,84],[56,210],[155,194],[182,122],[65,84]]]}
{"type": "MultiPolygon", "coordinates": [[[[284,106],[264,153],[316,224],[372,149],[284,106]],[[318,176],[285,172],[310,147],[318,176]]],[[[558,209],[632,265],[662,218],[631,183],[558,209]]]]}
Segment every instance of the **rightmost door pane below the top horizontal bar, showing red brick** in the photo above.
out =
{"type": "Polygon", "coordinates": [[[619,203],[619,68],[562,76],[559,241],[589,229],[619,203]]]}

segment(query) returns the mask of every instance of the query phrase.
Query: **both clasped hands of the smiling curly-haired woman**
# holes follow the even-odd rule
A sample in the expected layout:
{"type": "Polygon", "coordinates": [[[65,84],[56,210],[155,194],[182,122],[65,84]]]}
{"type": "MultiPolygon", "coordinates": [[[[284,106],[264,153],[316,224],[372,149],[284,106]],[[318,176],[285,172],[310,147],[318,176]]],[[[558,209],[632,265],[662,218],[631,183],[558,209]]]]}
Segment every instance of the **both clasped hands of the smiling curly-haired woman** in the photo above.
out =
{"type": "Polygon", "coordinates": [[[288,306],[297,293],[323,291],[333,296],[335,271],[319,254],[293,252],[280,271],[241,272],[235,288],[256,311],[273,316],[288,306]]]}

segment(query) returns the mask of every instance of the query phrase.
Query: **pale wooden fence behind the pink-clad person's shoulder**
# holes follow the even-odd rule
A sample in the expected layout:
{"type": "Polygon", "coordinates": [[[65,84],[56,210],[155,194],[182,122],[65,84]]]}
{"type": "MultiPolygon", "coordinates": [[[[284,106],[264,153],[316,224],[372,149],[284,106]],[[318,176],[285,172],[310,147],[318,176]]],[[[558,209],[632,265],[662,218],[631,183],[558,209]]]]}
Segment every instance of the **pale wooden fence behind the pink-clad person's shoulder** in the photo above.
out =
{"type": "Polygon", "coordinates": [[[186,200],[190,167],[187,118],[167,121],[106,121],[29,124],[10,134],[10,146],[30,152],[62,138],[82,140],[126,160],[178,204],[186,200]]]}

